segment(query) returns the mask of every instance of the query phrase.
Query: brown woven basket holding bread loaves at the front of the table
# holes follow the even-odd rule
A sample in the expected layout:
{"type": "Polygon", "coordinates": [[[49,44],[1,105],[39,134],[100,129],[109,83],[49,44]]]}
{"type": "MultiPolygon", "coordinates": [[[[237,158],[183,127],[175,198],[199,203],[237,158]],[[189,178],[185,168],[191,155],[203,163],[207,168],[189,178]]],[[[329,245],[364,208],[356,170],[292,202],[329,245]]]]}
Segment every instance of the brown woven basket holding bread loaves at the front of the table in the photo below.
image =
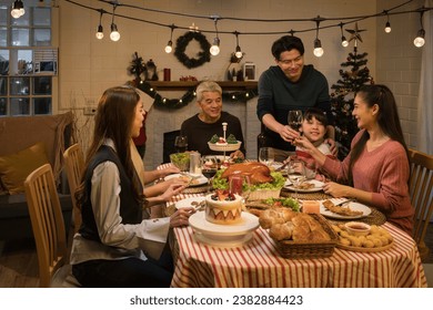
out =
{"type": "Polygon", "coordinates": [[[323,229],[330,235],[330,241],[293,241],[293,240],[274,240],[276,248],[284,258],[325,258],[334,254],[339,237],[328,221],[321,215],[311,214],[320,223],[323,229]]]}

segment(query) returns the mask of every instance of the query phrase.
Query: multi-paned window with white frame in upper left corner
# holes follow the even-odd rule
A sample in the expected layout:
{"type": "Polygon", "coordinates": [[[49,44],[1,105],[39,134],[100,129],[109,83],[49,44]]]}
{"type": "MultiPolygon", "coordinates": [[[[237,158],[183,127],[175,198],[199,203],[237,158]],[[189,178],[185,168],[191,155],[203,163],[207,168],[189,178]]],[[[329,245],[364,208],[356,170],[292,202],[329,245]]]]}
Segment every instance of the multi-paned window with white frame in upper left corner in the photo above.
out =
{"type": "Polygon", "coordinates": [[[0,0],[0,117],[52,114],[58,50],[49,2],[26,0],[26,13],[14,19],[13,1],[0,0]]]}

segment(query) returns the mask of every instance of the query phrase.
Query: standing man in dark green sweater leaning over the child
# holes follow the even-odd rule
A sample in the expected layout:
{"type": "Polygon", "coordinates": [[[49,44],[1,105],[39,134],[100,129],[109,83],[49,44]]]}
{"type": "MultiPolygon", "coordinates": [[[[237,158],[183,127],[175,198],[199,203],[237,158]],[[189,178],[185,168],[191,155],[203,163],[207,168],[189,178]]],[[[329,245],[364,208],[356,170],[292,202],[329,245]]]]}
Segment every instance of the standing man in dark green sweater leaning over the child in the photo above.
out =
{"type": "MultiPolygon", "coordinates": [[[[326,78],[312,64],[304,64],[304,45],[301,39],[284,35],[272,45],[276,65],[270,66],[259,79],[256,114],[265,126],[266,144],[275,149],[275,161],[284,161],[294,146],[291,142],[299,133],[288,126],[291,110],[305,111],[319,107],[333,124],[326,78]]],[[[331,151],[336,153],[334,128],[326,132],[331,151]]],[[[334,154],[336,155],[336,154],[334,154]]]]}

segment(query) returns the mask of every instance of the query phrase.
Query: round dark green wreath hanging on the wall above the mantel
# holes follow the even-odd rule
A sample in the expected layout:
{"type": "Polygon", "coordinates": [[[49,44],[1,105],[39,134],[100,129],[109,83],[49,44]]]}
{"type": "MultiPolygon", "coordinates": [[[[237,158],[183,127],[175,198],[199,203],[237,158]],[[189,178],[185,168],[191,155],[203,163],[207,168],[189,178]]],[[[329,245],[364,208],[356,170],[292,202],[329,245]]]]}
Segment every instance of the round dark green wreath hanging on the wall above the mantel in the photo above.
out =
{"type": "Polygon", "coordinates": [[[189,31],[185,34],[178,38],[174,55],[178,58],[178,60],[188,69],[197,68],[202,65],[205,62],[211,61],[211,53],[209,49],[211,48],[211,44],[209,43],[208,39],[204,37],[204,34],[200,32],[189,31]],[[200,43],[201,51],[198,53],[199,58],[189,58],[185,54],[185,50],[188,44],[195,40],[200,43]]]}

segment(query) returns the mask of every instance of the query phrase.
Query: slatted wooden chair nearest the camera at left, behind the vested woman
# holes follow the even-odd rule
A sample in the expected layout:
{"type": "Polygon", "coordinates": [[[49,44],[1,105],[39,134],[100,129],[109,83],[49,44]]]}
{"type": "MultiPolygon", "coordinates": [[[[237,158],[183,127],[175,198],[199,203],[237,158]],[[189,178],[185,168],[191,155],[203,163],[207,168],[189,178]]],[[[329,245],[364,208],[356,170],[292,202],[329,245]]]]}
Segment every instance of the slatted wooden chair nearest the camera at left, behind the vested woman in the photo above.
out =
{"type": "Polygon", "coordinates": [[[34,169],[24,182],[39,265],[39,286],[78,287],[67,265],[67,232],[50,164],[34,169]]]}

